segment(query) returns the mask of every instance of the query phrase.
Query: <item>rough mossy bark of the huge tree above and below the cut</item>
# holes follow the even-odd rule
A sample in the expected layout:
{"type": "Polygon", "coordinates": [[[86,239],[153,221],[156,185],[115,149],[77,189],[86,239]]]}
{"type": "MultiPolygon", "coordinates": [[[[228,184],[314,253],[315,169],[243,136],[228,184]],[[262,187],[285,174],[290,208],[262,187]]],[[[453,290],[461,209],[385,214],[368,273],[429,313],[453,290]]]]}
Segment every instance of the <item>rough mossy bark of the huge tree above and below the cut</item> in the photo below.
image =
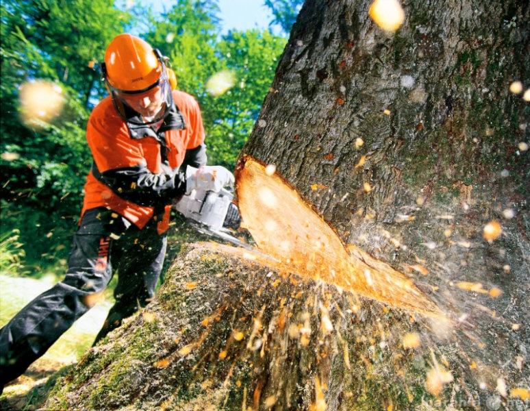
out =
{"type": "Polygon", "coordinates": [[[524,410],[530,386],[527,0],[307,0],[244,148],[346,244],[453,321],[193,246],[53,409],[524,410]],[[500,236],[486,235],[497,221],[500,236]]]}

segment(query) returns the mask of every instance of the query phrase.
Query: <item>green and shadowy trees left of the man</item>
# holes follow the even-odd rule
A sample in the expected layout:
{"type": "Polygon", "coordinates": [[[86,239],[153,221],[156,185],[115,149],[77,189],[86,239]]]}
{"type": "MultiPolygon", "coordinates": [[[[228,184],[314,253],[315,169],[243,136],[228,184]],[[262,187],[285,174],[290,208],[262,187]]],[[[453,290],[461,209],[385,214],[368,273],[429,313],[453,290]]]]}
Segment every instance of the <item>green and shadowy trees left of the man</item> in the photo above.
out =
{"type": "Polygon", "coordinates": [[[44,254],[56,262],[67,251],[90,167],[84,127],[90,100],[103,95],[94,66],[131,15],[108,1],[5,1],[1,8],[2,231],[21,229],[28,260],[42,263],[44,254]],[[32,87],[42,81],[44,89],[32,87]],[[32,90],[25,103],[23,86],[32,90]],[[40,116],[53,99],[60,116],[40,116]],[[28,113],[28,104],[37,109],[28,113]]]}

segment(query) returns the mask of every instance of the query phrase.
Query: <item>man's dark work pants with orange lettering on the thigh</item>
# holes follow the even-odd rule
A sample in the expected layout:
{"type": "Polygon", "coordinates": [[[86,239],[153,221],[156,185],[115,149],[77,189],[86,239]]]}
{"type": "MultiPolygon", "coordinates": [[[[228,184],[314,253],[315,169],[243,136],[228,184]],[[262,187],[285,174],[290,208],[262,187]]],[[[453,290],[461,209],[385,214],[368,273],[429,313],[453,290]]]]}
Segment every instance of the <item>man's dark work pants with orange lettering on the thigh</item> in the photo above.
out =
{"type": "Polygon", "coordinates": [[[166,234],[155,221],[138,229],[105,208],[85,212],[73,237],[73,251],[62,282],[27,304],[0,329],[0,386],[15,379],[85,314],[114,273],[116,302],[96,337],[147,306],[155,293],[166,253],[166,234]]]}

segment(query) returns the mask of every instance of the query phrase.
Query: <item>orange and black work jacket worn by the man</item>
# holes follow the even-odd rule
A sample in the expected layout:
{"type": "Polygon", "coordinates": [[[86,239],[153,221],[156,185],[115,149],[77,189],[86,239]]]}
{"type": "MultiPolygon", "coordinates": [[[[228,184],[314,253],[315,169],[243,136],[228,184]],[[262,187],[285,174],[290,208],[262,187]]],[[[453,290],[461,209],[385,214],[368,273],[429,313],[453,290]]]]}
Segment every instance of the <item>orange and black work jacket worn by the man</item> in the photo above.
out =
{"type": "Polygon", "coordinates": [[[204,138],[199,104],[185,92],[173,90],[173,105],[157,132],[148,125],[128,123],[110,96],[103,99],[86,129],[94,164],[86,179],[81,216],[91,208],[106,207],[140,229],[154,218],[162,234],[168,229],[173,199],[186,192],[186,165],[206,163],[204,138]]]}

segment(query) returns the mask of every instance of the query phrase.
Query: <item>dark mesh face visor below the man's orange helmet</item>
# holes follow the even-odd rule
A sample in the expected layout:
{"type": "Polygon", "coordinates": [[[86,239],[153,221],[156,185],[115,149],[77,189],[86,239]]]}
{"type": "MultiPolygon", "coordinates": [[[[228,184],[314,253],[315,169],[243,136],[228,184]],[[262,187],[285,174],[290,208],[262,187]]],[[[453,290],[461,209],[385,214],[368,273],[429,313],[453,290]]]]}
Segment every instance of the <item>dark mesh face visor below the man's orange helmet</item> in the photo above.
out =
{"type": "Polygon", "coordinates": [[[112,101],[118,114],[124,121],[134,125],[151,125],[157,123],[164,119],[168,108],[173,103],[171,86],[164,64],[162,64],[162,75],[160,75],[157,82],[142,90],[120,90],[108,82],[106,75],[104,75],[103,80],[110,90],[110,95],[112,96],[112,101]],[[160,110],[150,115],[149,119],[146,119],[145,114],[142,115],[140,112],[143,110],[139,110],[138,107],[140,105],[143,108],[149,104],[155,106],[160,104],[160,110]]]}

